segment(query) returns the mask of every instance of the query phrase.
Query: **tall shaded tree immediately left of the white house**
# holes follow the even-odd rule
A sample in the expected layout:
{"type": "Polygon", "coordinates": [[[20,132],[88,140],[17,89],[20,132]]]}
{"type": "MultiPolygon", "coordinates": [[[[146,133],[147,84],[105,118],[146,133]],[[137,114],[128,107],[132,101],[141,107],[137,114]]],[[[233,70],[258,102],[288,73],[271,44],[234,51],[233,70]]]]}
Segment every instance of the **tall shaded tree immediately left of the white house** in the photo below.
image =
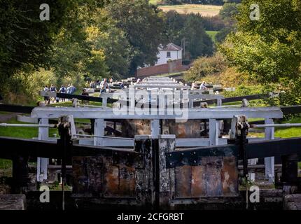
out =
{"type": "Polygon", "coordinates": [[[147,0],[112,1],[106,10],[132,45],[130,73],[133,74],[137,66],[154,64],[163,38],[163,13],[147,0]]]}

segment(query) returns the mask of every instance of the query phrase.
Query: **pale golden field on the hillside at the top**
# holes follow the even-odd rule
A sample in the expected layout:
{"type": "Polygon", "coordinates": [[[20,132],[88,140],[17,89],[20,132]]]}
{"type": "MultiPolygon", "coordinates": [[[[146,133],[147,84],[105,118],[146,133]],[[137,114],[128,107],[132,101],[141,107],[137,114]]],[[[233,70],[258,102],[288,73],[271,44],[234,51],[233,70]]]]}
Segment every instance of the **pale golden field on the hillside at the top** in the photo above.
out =
{"type": "Polygon", "coordinates": [[[200,4],[183,4],[183,5],[172,5],[172,6],[158,6],[165,12],[169,10],[175,10],[180,14],[189,14],[189,13],[200,13],[202,16],[215,16],[220,13],[222,6],[212,6],[212,5],[200,5],[200,4]]]}

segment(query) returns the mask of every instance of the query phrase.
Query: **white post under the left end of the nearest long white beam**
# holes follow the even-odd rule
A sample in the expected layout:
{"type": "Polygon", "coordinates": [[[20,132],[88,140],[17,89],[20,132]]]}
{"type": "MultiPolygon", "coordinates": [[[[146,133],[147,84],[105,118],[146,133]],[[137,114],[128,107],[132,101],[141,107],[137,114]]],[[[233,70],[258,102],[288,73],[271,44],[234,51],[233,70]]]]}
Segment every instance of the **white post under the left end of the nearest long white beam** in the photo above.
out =
{"type": "MultiPolygon", "coordinates": [[[[48,125],[48,118],[41,118],[38,120],[39,125],[48,125]]],[[[39,127],[38,128],[38,140],[47,141],[49,138],[49,128],[48,127],[39,127]]],[[[38,182],[43,182],[47,180],[49,159],[48,158],[38,158],[36,165],[36,179],[38,182]]]]}

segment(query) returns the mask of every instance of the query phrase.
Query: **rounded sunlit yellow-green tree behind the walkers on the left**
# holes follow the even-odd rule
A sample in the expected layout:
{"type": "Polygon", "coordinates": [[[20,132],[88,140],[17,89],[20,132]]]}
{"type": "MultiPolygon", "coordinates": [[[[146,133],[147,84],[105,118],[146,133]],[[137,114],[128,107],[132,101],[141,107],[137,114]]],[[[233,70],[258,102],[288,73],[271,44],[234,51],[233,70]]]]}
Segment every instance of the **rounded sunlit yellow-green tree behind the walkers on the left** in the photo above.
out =
{"type": "Polygon", "coordinates": [[[98,4],[83,3],[69,16],[70,23],[54,44],[52,66],[57,76],[126,76],[131,47],[106,11],[98,4]]]}

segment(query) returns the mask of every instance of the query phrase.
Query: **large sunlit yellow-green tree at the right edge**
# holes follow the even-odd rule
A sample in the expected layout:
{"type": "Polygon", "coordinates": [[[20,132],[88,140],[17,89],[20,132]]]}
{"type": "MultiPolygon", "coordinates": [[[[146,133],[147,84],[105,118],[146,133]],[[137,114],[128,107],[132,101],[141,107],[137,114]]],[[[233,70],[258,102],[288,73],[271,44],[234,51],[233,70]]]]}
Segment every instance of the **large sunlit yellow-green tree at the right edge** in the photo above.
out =
{"type": "Polygon", "coordinates": [[[239,7],[237,33],[230,34],[221,52],[230,64],[265,85],[300,97],[301,3],[297,0],[258,2],[260,19],[250,19],[246,0],[239,7]]]}

